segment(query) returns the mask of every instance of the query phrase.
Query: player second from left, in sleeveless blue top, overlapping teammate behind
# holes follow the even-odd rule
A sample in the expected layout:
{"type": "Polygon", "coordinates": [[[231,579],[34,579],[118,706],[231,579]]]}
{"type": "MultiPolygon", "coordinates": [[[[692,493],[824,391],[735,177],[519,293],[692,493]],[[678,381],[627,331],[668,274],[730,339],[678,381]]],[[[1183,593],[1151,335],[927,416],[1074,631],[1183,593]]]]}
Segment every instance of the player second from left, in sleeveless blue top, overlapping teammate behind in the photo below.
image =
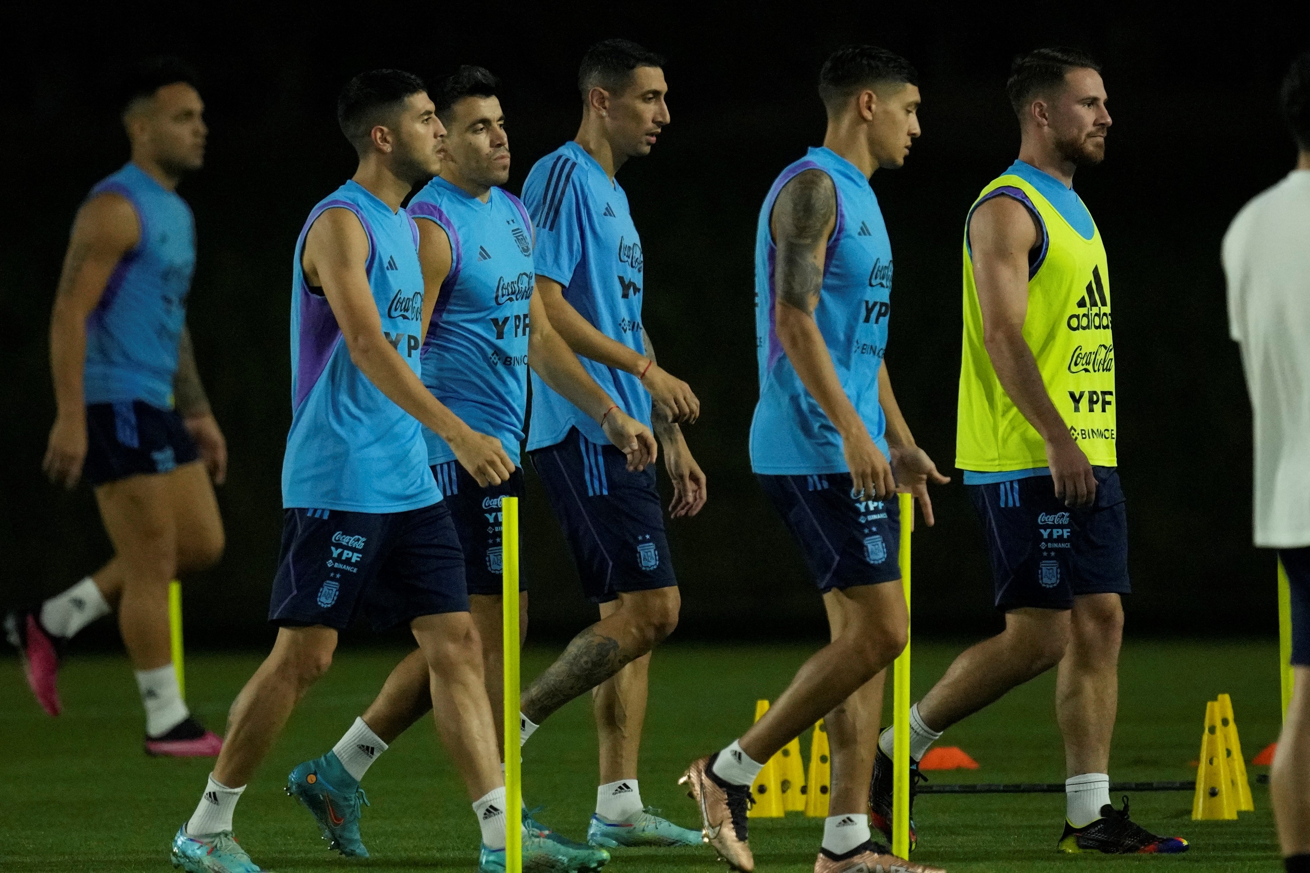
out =
{"type": "Polygon", "coordinates": [[[172,859],[193,873],[258,870],[232,836],[233,808],[296,702],[331,664],[338,631],[363,615],[414,633],[438,730],[482,828],[479,869],[503,870],[504,779],[464,555],[419,423],[481,486],[507,482],[514,462],[419,380],[435,300],[423,292],[418,228],[401,209],[417,182],[440,171],[445,130],[423,82],[394,69],[351,80],[337,116],[359,168],[309,213],[292,263],[293,414],[269,609],[278,639],[232,704],[227,743],[172,859]]]}

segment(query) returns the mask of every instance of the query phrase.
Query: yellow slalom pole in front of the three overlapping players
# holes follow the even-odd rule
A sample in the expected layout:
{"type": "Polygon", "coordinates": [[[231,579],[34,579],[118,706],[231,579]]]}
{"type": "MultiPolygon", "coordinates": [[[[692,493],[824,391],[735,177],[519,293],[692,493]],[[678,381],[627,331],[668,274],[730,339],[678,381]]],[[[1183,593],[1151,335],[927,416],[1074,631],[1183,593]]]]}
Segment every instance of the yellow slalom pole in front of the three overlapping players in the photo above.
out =
{"type": "Polygon", "coordinates": [[[504,647],[504,870],[523,873],[523,755],[519,753],[519,499],[500,497],[504,647]]]}

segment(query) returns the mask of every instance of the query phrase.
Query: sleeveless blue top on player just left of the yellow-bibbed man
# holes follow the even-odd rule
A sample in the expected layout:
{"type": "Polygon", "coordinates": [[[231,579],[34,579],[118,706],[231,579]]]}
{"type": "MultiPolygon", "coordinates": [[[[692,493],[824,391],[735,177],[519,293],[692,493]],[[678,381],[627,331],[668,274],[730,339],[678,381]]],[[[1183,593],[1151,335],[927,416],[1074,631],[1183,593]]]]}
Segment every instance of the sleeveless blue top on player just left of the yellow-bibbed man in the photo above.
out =
{"type": "MultiPolygon", "coordinates": [[[[891,319],[892,247],[878,198],[859,169],[827,148],[811,148],[769,188],[755,234],[755,330],[760,402],[751,421],[751,469],[765,475],[849,472],[841,435],[800,381],[777,332],[777,245],[769,223],[782,187],[804,170],[827,173],[837,192],[837,223],[824,258],[814,318],[841,387],[887,455],[887,419],[878,370],[891,319]]],[[[889,455],[888,455],[889,457],[889,455]]]]}

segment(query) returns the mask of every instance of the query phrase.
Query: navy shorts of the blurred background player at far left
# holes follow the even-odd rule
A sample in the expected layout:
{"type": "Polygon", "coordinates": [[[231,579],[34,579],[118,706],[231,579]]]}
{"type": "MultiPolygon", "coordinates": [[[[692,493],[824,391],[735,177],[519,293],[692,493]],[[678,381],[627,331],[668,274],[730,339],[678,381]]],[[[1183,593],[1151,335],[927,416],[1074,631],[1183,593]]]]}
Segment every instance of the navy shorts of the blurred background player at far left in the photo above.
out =
{"type": "Polygon", "coordinates": [[[86,463],[93,486],[127,476],[168,472],[200,457],[176,410],[144,401],[86,406],[86,463]]]}

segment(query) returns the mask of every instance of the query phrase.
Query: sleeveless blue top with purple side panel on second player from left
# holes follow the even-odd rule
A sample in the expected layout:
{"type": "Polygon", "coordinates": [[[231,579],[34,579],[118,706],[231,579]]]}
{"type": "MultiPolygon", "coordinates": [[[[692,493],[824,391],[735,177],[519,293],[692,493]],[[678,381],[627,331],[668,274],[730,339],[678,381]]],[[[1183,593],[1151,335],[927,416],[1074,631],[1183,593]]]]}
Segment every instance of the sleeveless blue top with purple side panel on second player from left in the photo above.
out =
{"type": "Polygon", "coordinates": [[[291,432],[282,461],[282,505],[390,513],[441,500],[427,467],[423,425],[383,394],[354,361],[321,288],[305,283],[309,228],[348,209],[368,236],[368,287],[386,338],[415,374],[423,318],[418,228],[354,179],[309,213],[292,263],[291,432]]]}

